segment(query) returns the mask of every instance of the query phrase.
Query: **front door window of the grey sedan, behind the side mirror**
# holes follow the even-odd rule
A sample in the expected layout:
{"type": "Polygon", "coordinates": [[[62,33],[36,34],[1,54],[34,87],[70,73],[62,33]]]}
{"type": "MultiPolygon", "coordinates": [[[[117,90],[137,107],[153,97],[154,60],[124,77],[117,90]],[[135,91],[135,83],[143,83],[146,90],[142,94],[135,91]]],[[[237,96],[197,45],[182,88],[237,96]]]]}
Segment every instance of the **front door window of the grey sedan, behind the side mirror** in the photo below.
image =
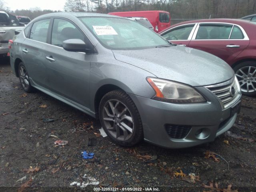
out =
{"type": "Polygon", "coordinates": [[[71,22],[64,19],[54,19],[51,44],[62,47],[62,42],[68,39],[84,41],[84,35],[71,22]]]}

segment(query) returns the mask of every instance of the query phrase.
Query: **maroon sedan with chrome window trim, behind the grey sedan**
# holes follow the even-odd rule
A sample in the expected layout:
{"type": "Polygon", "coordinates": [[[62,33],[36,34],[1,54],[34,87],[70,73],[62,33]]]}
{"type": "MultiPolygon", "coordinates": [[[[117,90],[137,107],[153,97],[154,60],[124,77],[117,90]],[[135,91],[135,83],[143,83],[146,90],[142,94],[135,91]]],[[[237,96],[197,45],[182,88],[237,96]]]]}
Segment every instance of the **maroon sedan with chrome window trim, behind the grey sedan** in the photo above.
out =
{"type": "Polygon", "coordinates": [[[161,36],[178,45],[200,49],[226,61],[242,93],[256,95],[256,24],[239,19],[193,20],[175,24],[161,36]]]}

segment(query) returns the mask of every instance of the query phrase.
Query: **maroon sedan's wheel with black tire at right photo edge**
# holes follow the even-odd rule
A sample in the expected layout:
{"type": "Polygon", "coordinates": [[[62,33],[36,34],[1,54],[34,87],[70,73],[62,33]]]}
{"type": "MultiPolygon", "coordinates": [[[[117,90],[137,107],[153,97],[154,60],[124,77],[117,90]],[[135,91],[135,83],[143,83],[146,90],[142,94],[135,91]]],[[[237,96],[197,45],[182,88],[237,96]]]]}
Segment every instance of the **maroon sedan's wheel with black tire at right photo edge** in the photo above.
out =
{"type": "Polygon", "coordinates": [[[233,69],[240,83],[242,94],[256,96],[256,62],[242,62],[233,69]]]}

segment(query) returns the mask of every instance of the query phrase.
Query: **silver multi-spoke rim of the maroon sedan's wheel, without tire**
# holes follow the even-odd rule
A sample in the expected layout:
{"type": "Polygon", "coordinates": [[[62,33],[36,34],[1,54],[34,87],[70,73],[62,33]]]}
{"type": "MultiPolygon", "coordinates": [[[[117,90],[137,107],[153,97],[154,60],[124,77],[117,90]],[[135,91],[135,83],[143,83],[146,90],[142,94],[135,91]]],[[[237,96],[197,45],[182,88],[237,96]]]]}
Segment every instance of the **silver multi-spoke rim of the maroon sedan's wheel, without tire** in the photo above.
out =
{"type": "Polygon", "coordinates": [[[236,71],[236,77],[243,92],[256,91],[256,67],[242,67],[236,71]]]}

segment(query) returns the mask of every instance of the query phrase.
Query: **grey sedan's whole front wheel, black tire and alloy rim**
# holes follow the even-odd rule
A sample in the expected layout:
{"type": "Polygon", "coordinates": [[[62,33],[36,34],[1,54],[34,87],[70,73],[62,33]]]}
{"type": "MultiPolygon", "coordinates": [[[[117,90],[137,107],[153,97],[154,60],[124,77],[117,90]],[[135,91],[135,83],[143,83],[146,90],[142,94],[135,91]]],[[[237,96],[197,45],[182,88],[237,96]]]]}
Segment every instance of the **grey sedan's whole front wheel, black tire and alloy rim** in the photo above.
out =
{"type": "Polygon", "coordinates": [[[106,134],[121,146],[134,146],[144,138],[138,109],[122,90],[114,90],[103,96],[99,117],[106,134]]]}

